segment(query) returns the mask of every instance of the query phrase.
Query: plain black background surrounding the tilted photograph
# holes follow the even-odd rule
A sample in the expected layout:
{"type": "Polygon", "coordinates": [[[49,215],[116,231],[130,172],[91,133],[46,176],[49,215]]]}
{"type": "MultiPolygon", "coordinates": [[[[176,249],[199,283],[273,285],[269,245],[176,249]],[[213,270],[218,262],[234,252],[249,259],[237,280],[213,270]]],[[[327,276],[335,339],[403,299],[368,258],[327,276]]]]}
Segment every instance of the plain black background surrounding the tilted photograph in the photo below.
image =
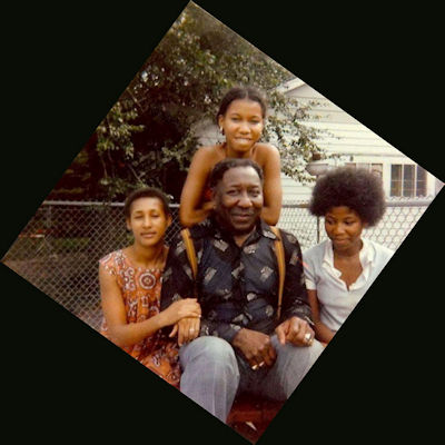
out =
{"type": "MultiPolygon", "coordinates": [[[[197,3],[445,180],[437,11],[197,3]]],[[[1,255],[186,4],[6,11],[12,27],[2,58],[1,255]]],[[[441,192],[260,443],[433,438],[433,402],[443,386],[444,291],[434,256],[444,247],[443,208],[441,192]]],[[[24,279],[0,270],[3,425],[16,437],[245,443],[24,279]]]]}

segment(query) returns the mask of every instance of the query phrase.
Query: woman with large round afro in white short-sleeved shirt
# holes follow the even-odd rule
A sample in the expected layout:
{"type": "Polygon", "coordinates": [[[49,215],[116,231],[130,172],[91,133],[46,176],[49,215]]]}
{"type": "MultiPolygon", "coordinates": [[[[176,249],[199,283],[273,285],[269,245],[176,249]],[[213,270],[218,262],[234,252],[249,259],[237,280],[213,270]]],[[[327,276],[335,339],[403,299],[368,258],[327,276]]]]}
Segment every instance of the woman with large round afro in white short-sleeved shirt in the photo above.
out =
{"type": "Polygon", "coordinates": [[[385,212],[382,180],[340,167],[318,178],[309,211],[325,219],[327,239],[304,254],[316,338],[329,343],[385,267],[393,250],[362,238],[385,212]]]}

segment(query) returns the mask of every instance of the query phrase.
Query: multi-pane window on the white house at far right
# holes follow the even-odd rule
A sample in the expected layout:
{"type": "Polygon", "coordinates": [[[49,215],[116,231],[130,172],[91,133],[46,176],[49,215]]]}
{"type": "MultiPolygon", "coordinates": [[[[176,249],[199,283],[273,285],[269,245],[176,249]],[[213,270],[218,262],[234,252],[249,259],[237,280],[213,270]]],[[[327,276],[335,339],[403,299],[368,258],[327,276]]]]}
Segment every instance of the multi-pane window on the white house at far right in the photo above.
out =
{"type": "Polygon", "coordinates": [[[416,165],[390,166],[390,196],[426,196],[426,170],[416,165]]]}

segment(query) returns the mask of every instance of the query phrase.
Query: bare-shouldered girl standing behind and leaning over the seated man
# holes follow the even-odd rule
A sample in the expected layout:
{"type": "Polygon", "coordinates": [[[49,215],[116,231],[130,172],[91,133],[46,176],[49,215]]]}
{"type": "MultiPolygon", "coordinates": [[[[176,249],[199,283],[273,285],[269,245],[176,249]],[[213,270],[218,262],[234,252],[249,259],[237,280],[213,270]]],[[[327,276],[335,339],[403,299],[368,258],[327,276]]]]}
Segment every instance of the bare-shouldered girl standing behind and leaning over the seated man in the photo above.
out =
{"type": "Polygon", "coordinates": [[[206,219],[214,205],[208,177],[214,166],[226,158],[249,158],[264,170],[263,219],[275,226],[281,209],[280,157],[278,149],[259,142],[266,119],[266,103],[251,87],[236,87],[222,98],[217,122],[226,140],[201,147],[195,154],[180,198],[179,218],[189,227],[206,219]]]}

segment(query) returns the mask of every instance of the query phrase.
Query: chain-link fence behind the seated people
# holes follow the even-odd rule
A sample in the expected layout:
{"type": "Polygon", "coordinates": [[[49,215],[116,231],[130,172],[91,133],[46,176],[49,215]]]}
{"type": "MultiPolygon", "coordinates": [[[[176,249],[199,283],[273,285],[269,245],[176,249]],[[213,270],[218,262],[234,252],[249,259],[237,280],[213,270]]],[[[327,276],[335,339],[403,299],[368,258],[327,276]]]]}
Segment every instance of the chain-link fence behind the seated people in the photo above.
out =
{"type": "MultiPolygon", "coordinates": [[[[364,236],[392,249],[403,243],[431,200],[389,201],[378,226],[364,236]]],[[[97,329],[101,320],[98,260],[131,243],[122,204],[44,201],[2,261],[97,329]]],[[[178,206],[167,244],[178,233],[178,206]]],[[[323,218],[307,204],[285,204],[278,226],[296,235],[305,250],[326,238],[323,218]]]]}

